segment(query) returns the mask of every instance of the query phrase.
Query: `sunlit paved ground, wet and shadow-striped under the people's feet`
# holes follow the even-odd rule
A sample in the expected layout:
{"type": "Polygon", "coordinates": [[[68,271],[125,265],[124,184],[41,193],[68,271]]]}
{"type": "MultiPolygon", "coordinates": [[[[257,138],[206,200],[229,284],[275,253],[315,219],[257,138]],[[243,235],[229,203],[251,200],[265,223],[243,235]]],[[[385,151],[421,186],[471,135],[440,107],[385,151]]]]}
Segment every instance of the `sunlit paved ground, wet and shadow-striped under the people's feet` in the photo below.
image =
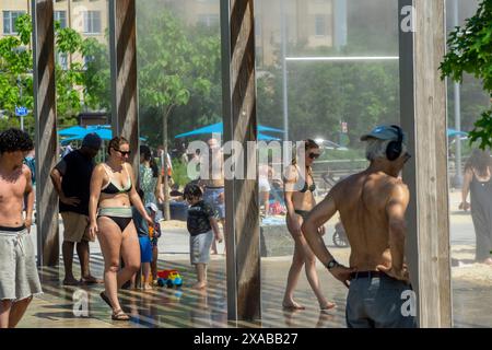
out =
{"type": "MultiPolygon", "coordinates": [[[[471,218],[457,211],[459,192],[450,194],[450,235],[452,247],[466,247],[472,256],[475,231],[471,218]]],[[[325,241],[331,245],[335,221],[328,224],[325,241]]],[[[60,226],[60,232],[62,228],[60,226]]],[[[36,242],[36,232],[32,238],[36,242]]],[[[156,288],[151,292],[122,291],[121,304],[131,314],[131,322],[110,320],[110,310],[98,293],[103,285],[62,287],[63,272],[59,268],[44,268],[39,271],[44,294],[36,298],[20,327],[344,327],[344,303],[347,289],[336,281],[318,262],[317,269],[325,295],[338,304],[329,313],[320,313],[305,275],[301,276],[296,300],[306,306],[298,312],[286,312],[281,307],[291,257],[268,257],[261,259],[261,319],[251,323],[232,324],[226,315],[225,257],[213,256],[209,266],[209,288],[206,292],[190,289],[195,282],[195,271],[189,264],[188,233],[183,228],[168,228],[163,232],[159,244],[160,269],[177,269],[183,278],[180,290],[156,288]],[[80,301],[87,301],[87,313],[81,312],[80,301]],[[78,304],[79,301],[79,304],[78,304]],[[75,312],[74,312],[75,306],[75,312]],[[82,315],[81,315],[82,314],[82,315]]],[[[347,264],[348,248],[330,247],[341,262],[347,264]]],[[[219,246],[223,252],[223,245],[219,246]]],[[[454,253],[455,254],[455,253],[454,253]]],[[[97,243],[91,244],[91,268],[95,276],[103,276],[103,257],[97,243]]],[[[80,276],[74,262],[75,277],[80,276]]],[[[60,259],[61,264],[61,259],[60,259]]],[[[492,269],[492,268],[491,268],[492,269]]],[[[492,288],[487,283],[453,279],[454,319],[457,327],[492,326],[492,288]]]]}

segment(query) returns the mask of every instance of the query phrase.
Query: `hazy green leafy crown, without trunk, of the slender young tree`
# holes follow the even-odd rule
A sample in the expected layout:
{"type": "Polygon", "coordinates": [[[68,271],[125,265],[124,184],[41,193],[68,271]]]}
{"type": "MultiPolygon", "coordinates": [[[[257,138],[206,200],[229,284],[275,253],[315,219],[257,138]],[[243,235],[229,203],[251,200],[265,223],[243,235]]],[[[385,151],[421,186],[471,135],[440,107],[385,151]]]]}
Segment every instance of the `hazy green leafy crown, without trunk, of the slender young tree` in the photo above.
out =
{"type": "Polygon", "coordinates": [[[138,33],[141,130],[151,143],[157,144],[167,140],[162,133],[163,122],[169,120],[174,125],[185,120],[181,113],[186,109],[175,113],[176,108],[190,101],[207,100],[221,86],[216,77],[220,37],[204,30],[186,31],[169,10],[155,14],[151,8],[142,9],[139,14],[138,33]]]}

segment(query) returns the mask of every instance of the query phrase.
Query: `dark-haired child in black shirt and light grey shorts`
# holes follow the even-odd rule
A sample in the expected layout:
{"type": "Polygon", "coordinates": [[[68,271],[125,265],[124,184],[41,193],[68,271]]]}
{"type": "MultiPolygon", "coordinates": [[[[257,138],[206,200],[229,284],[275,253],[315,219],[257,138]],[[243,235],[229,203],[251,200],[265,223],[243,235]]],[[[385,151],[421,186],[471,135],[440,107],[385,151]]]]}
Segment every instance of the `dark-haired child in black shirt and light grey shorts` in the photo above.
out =
{"type": "Polygon", "coordinates": [[[191,265],[197,270],[195,289],[207,287],[207,264],[210,261],[210,247],[216,238],[222,242],[222,235],[214,219],[213,209],[203,200],[203,192],[197,184],[185,187],[185,199],[190,205],[188,209],[189,254],[191,265]],[[213,232],[212,232],[213,230],[213,232]]]}

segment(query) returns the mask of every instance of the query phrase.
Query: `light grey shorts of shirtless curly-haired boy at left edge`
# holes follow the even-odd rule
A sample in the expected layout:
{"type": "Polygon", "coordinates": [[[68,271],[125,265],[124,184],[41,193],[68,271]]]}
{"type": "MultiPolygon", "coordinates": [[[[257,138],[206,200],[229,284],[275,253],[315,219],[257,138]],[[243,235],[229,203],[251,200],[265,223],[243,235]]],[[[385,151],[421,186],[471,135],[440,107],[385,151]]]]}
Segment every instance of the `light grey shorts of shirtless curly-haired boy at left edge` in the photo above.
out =
{"type": "Polygon", "coordinates": [[[23,300],[43,293],[32,236],[27,230],[0,231],[0,300],[23,300]]]}

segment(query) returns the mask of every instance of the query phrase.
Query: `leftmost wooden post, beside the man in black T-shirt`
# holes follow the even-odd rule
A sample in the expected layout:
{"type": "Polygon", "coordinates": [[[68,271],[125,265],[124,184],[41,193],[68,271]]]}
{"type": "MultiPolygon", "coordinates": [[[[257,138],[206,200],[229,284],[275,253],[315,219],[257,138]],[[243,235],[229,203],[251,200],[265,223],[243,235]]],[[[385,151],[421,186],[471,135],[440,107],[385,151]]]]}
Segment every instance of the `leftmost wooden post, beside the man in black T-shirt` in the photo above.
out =
{"type": "Polygon", "coordinates": [[[32,11],[37,264],[38,266],[57,266],[59,259],[58,197],[49,177],[58,158],[52,0],[33,0],[32,11]]]}

